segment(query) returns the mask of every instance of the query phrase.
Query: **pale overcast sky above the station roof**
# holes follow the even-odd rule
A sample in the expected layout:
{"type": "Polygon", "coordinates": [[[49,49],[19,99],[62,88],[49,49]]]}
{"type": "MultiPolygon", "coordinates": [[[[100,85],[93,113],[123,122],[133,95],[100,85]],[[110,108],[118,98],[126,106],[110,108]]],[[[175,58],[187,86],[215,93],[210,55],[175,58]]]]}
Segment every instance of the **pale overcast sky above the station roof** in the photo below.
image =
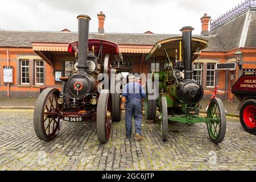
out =
{"type": "MultiPolygon", "coordinates": [[[[244,1],[244,0],[243,0],[244,1]]],[[[200,18],[212,19],[242,0],[8,0],[1,1],[0,29],[77,31],[79,14],[89,15],[90,32],[97,32],[97,13],[106,15],[105,32],[179,34],[183,26],[200,34],[200,18]]]]}

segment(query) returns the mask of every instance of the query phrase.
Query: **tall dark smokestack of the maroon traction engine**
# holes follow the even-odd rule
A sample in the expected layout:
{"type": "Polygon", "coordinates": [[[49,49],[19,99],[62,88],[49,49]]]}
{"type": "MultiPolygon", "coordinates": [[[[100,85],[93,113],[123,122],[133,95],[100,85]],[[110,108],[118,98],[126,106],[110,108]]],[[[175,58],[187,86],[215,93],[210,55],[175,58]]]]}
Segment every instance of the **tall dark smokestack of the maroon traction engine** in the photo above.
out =
{"type": "Polygon", "coordinates": [[[77,72],[86,72],[86,69],[88,68],[86,63],[87,63],[90,16],[78,15],[77,19],[79,21],[79,28],[78,28],[79,55],[78,55],[77,72]]]}

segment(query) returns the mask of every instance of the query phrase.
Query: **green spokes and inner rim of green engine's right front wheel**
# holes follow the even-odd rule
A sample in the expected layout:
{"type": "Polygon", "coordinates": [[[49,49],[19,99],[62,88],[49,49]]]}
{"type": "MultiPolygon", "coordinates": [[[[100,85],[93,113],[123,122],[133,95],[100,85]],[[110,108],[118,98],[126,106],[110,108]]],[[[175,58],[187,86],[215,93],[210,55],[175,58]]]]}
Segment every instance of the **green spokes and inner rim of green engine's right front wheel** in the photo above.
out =
{"type": "Polygon", "coordinates": [[[208,118],[211,119],[211,121],[207,123],[210,138],[216,140],[221,127],[220,108],[216,102],[211,102],[208,109],[208,118]]]}

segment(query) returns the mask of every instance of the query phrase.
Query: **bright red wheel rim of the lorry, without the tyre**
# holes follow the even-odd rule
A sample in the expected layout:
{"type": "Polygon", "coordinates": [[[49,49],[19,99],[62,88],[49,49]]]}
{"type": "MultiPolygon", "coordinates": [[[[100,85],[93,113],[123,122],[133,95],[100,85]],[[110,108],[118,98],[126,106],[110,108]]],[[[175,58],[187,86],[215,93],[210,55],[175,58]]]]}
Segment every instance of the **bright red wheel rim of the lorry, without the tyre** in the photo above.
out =
{"type": "Polygon", "coordinates": [[[255,106],[247,106],[245,110],[243,110],[243,121],[248,127],[254,128],[256,127],[256,107],[255,106]]]}

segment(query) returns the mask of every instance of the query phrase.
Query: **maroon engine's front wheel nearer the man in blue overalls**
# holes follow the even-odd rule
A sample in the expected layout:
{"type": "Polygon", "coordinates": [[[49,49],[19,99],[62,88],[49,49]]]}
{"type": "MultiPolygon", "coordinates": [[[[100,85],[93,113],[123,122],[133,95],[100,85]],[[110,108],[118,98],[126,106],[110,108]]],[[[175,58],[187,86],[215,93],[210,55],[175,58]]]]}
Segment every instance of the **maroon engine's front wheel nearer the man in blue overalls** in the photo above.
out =
{"type": "Polygon", "coordinates": [[[109,90],[101,90],[97,105],[97,136],[101,143],[109,140],[112,127],[112,96],[109,90]]]}

